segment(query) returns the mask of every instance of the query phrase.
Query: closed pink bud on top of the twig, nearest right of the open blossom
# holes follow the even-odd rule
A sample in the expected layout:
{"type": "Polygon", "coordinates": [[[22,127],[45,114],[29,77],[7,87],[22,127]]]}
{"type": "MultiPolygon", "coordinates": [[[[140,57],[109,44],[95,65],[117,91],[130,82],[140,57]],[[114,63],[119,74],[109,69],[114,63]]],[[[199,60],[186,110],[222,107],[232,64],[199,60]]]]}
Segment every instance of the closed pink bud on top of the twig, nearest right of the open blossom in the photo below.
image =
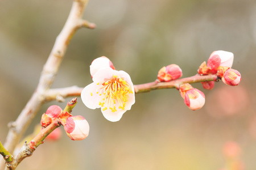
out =
{"type": "Polygon", "coordinates": [[[171,80],[178,79],[182,76],[182,70],[178,65],[172,64],[162,69],[158,72],[158,79],[161,82],[170,82],[171,80]]]}

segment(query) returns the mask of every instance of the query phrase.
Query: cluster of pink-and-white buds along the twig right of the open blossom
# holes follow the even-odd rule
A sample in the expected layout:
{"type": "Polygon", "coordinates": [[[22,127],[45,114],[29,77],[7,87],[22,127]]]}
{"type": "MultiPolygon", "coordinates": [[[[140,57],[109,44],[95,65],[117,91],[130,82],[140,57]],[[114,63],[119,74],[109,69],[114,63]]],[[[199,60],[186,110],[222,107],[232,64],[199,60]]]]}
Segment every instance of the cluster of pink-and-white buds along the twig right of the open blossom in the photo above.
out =
{"type": "MultiPolygon", "coordinates": [[[[207,63],[201,63],[197,72],[200,75],[216,74],[218,78],[229,86],[237,86],[241,81],[241,74],[234,69],[230,69],[233,65],[234,54],[223,50],[214,51],[210,54],[207,63]]],[[[158,80],[160,82],[170,82],[182,76],[182,70],[175,64],[162,67],[158,72],[158,80]]],[[[214,81],[201,82],[203,88],[212,90],[214,81]]],[[[184,103],[189,109],[195,111],[205,104],[205,95],[200,90],[193,88],[189,83],[180,84],[177,89],[180,91],[184,103]]]]}

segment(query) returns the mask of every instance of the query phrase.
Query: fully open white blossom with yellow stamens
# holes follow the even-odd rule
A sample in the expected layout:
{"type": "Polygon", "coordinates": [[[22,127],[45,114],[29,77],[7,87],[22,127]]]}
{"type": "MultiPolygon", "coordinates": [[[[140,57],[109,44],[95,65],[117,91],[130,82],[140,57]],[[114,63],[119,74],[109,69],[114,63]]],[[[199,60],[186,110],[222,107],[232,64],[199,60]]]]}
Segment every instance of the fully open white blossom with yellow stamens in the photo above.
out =
{"type": "Polygon", "coordinates": [[[93,75],[93,83],[82,90],[81,99],[90,109],[101,108],[107,120],[119,121],[135,103],[133,82],[125,71],[104,67],[93,75]]]}

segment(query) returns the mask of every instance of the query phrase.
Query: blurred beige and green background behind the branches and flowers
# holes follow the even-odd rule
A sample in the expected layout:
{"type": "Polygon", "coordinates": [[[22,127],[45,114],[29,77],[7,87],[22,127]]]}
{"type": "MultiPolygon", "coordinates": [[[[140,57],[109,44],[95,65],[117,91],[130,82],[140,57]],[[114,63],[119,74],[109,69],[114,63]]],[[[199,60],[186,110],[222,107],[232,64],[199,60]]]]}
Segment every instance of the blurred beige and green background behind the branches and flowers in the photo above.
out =
{"type": "MultiPolygon", "coordinates": [[[[0,1],[0,139],[34,92],[72,1],[0,1]]],[[[191,111],[177,90],[137,94],[136,103],[118,122],[100,109],[73,109],[90,125],[84,141],[45,142],[18,169],[213,169],[225,168],[226,142],[241,147],[245,169],[256,168],[256,1],[254,0],[94,0],[84,18],[97,24],[80,29],[69,45],[53,88],[92,83],[89,65],[106,56],[134,84],[152,82],[163,66],[175,63],[183,78],[197,73],[214,50],[234,53],[239,86],[215,84],[212,91],[193,84],[206,96],[191,111]],[[75,75],[75,76],[74,76],[75,75]]],[[[42,113],[28,128],[31,134],[42,113]]],[[[24,141],[22,141],[24,142],[24,141]]]]}

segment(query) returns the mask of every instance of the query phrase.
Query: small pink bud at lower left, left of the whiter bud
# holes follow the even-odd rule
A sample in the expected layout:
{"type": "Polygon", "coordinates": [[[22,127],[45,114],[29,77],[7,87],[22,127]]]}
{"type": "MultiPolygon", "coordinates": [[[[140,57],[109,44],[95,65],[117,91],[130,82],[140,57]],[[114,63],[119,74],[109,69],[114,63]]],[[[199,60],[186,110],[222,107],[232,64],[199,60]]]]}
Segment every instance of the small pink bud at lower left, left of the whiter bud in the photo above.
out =
{"type": "Polygon", "coordinates": [[[57,105],[51,105],[46,113],[42,115],[41,118],[41,125],[42,127],[46,128],[52,121],[56,120],[59,114],[62,112],[62,109],[57,105]]]}

